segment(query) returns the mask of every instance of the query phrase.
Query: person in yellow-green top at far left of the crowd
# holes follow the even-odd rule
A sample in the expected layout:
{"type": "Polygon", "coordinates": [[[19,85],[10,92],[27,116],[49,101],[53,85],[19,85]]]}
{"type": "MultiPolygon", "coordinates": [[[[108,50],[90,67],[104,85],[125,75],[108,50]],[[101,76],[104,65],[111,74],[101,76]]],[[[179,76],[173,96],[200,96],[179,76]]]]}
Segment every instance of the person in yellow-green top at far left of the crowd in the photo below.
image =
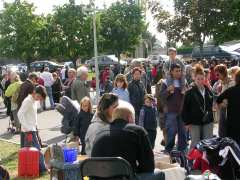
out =
{"type": "Polygon", "coordinates": [[[19,133],[21,130],[21,126],[17,117],[18,112],[18,106],[17,106],[17,98],[20,91],[20,86],[22,84],[18,74],[16,72],[12,72],[10,74],[10,81],[11,84],[8,86],[5,96],[11,97],[11,121],[13,122],[13,125],[16,127],[16,133],[19,133]]]}

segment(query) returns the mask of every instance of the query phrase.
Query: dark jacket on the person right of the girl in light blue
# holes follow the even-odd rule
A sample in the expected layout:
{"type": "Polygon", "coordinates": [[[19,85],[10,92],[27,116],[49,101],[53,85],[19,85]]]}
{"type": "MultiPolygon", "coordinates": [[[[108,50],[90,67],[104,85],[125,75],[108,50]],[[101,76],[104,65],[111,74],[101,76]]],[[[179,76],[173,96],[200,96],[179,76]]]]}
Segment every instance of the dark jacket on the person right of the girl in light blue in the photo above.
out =
{"type": "Polygon", "coordinates": [[[144,102],[144,84],[141,81],[133,80],[128,85],[128,92],[131,104],[133,105],[136,113],[139,113],[144,102]]]}

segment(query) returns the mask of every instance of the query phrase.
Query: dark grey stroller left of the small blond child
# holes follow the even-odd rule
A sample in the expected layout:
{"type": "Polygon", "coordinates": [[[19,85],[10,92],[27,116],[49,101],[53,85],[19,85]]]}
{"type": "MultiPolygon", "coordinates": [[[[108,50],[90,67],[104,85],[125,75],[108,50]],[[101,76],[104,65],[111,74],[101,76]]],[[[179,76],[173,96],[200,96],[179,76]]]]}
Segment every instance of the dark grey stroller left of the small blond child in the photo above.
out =
{"type": "Polygon", "coordinates": [[[63,115],[61,132],[67,135],[66,142],[69,142],[73,138],[73,128],[75,120],[77,119],[80,111],[80,105],[77,101],[71,100],[67,96],[63,96],[60,104],[57,104],[56,110],[63,115]]]}

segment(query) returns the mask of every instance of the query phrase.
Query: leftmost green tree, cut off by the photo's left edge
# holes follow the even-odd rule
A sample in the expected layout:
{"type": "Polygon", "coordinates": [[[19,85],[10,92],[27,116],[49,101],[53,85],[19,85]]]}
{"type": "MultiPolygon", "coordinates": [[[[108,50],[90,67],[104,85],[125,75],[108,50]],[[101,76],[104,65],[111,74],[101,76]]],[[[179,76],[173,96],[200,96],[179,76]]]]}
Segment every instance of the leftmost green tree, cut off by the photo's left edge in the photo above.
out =
{"type": "Polygon", "coordinates": [[[4,3],[0,14],[0,55],[29,64],[38,56],[42,18],[33,14],[35,7],[26,1],[4,3]]]}

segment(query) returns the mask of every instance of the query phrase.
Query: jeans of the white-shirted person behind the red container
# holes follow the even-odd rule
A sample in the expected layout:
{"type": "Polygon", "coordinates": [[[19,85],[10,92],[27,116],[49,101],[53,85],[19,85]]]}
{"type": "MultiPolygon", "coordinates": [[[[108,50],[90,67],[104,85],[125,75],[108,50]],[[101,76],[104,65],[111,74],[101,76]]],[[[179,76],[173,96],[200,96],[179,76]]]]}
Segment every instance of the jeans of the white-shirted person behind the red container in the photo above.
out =
{"type": "MultiPolygon", "coordinates": [[[[39,151],[41,151],[41,145],[39,143],[37,134],[34,131],[31,131],[31,132],[21,132],[21,134],[20,134],[20,142],[21,142],[21,148],[23,148],[23,147],[30,147],[31,146],[31,147],[35,147],[39,151]],[[32,142],[27,142],[26,136],[29,133],[32,134],[32,142]]],[[[40,153],[39,170],[40,170],[40,173],[46,171],[46,166],[45,166],[45,163],[44,163],[44,157],[43,157],[42,153],[40,153]]]]}

